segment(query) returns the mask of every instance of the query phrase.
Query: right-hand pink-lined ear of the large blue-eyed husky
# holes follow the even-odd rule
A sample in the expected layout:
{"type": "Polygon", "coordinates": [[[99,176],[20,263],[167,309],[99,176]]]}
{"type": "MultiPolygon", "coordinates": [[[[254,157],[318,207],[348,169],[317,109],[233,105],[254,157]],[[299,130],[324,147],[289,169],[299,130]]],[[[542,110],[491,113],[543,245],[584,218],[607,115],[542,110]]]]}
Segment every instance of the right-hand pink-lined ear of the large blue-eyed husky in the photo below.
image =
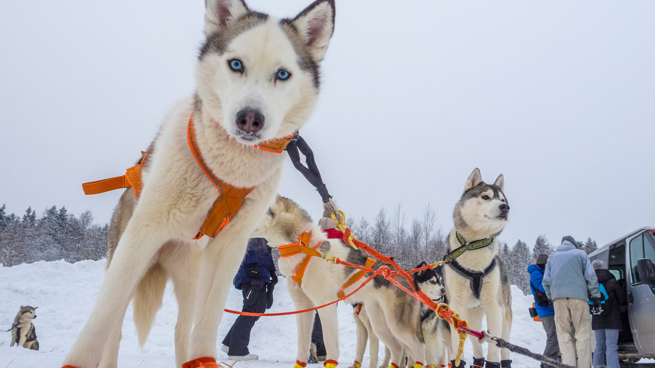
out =
{"type": "Polygon", "coordinates": [[[323,60],[334,33],[334,0],[316,0],[291,21],[316,62],[323,60]]]}

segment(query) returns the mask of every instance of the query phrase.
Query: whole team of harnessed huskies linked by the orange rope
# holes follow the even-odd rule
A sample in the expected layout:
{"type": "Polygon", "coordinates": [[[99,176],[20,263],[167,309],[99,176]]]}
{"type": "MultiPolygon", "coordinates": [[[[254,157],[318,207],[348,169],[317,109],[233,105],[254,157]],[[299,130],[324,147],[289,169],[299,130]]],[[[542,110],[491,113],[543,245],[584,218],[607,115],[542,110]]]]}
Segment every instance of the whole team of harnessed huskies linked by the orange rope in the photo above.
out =
{"type": "MultiPolygon", "coordinates": [[[[105,280],[65,358],[66,368],[117,367],[128,304],[134,301],[143,344],[169,279],[179,306],[176,366],[217,368],[217,327],[251,236],[281,247],[306,232],[310,248],[371,265],[362,251],[327,239],[305,210],[276,194],[286,160],[283,149],[318,100],[319,65],[334,31],[334,1],[316,0],[295,18],[284,19],[255,12],[244,0],[206,0],[205,5],[206,39],[196,65],[195,93],[174,105],[124,177],[96,183],[102,188],[98,193],[127,189],[111,218],[105,280]]],[[[457,249],[451,256],[457,253],[457,259],[436,271],[418,272],[414,282],[435,300],[445,291],[453,310],[473,329],[480,329],[486,315],[491,334],[506,339],[511,301],[495,240],[510,209],[503,188],[502,175],[488,185],[474,170],[455,206],[455,227],[448,236],[451,251],[457,249]]],[[[298,309],[333,301],[364,280],[346,283],[358,270],[320,259],[310,260],[298,278],[304,259],[289,254],[279,263],[298,309]]],[[[360,320],[370,326],[371,339],[379,337],[388,347],[392,367],[404,366],[403,350],[416,365],[436,365],[457,349],[457,333],[382,277],[347,301],[363,303],[360,320]]],[[[339,359],[336,305],[318,313],[326,367],[334,368],[339,359]]],[[[298,314],[299,367],[306,364],[311,329],[312,313],[298,314]]],[[[472,342],[474,365],[482,366],[481,346],[472,342]]],[[[508,352],[491,344],[486,361],[487,368],[510,367],[508,352]]]]}

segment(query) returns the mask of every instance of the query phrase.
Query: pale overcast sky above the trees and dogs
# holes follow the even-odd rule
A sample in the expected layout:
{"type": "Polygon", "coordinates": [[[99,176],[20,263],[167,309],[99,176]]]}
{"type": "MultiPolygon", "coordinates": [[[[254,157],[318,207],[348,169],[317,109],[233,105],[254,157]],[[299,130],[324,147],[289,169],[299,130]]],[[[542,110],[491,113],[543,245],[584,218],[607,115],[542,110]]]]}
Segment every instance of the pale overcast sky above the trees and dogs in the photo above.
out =
{"type": "MultiPolygon", "coordinates": [[[[430,203],[450,229],[479,167],[505,176],[511,244],[655,226],[655,2],[336,1],[301,134],[346,214],[400,202],[411,220],[430,203]]],[[[309,3],[248,1],[274,16],[309,3]]],[[[1,1],[0,205],[109,221],[119,191],[81,183],[123,174],[193,93],[203,4],[1,1]]],[[[320,216],[291,164],[280,193],[320,216]]]]}

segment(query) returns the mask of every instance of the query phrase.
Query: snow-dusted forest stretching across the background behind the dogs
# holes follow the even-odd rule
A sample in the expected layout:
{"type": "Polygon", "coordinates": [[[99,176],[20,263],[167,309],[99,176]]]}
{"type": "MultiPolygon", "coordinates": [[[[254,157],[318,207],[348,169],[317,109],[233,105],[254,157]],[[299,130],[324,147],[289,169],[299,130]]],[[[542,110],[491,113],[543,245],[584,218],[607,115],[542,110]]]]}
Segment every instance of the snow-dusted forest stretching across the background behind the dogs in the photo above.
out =
{"type": "MultiPolygon", "coordinates": [[[[60,259],[69,263],[85,259],[97,261],[105,257],[108,226],[94,223],[90,211],[76,216],[68,213],[65,206],[59,209],[52,206],[41,217],[31,208],[22,217],[5,212],[3,205],[0,207],[0,264],[5,267],[60,259]]],[[[440,261],[447,253],[449,228],[438,223],[436,212],[429,204],[418,219],[407,219],[398,204],[391,211],[381,208],[373,221],[364,217],[357,221],[350,217],[346,223],[358,239],[384,254],[394,255],[398,264],[406,269],[422,261],[440,261]]],[[[552,253],[558,244],[553,245],[546,236],[539,235],[533,247],[523,240],[510,246],[501,236],[500,259],[505,261],[510,283],[523,293],[529,293],[526,268],[534,263],[537,255],[552,253]],[[506,261],[509,259],[512,262],[506,261]]],[[[597,245],[588,238],[578,243],[578,248],[589,254],[597,245]]]]}

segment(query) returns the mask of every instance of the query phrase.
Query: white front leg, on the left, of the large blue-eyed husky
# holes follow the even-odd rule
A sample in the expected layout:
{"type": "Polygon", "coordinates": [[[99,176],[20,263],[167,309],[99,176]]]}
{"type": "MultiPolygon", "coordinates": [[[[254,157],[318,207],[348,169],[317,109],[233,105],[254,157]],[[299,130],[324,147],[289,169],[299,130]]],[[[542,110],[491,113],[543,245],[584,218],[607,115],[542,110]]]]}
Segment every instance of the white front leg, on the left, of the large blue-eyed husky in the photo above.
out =
{"type": "Polygon", "coordinates": [[[160,221],[137,210],[125,229],[100,287],[90,317],[64,359],[65,365],[95,368],[105,344],[119,323],[132,291],[152,262],[153,255],[170,237],[160,221]]]}

